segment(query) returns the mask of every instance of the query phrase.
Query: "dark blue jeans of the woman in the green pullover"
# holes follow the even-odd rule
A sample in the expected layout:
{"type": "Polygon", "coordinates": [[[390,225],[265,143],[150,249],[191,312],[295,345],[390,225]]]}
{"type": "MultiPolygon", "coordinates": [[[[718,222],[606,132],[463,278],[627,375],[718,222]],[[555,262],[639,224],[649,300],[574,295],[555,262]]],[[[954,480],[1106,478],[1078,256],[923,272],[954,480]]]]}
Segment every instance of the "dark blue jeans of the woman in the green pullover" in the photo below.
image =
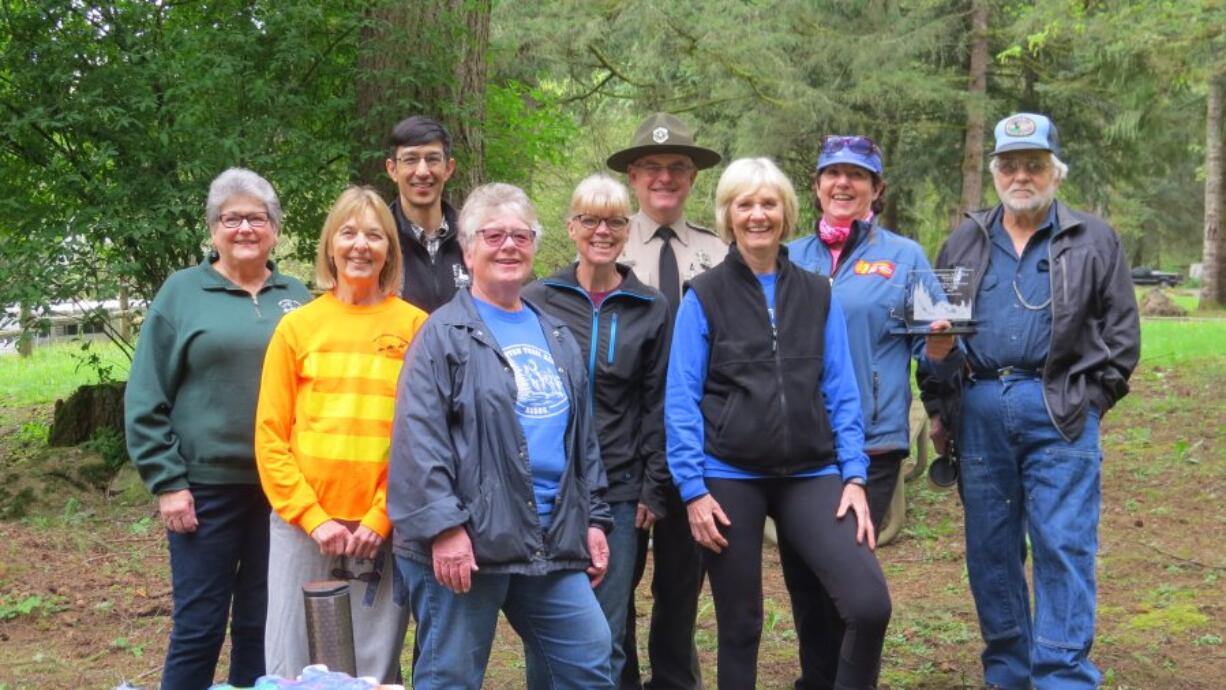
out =
{"type": "Polygon", "coordinates": [[[205,690],[230,627],[229,683],[264,675],[268,501],[255,485],[191,487],[195,532],[167,532],[174,599],[162,688],[205,690]],[[230,609],[233,607],[233,615],[230,609]]]}

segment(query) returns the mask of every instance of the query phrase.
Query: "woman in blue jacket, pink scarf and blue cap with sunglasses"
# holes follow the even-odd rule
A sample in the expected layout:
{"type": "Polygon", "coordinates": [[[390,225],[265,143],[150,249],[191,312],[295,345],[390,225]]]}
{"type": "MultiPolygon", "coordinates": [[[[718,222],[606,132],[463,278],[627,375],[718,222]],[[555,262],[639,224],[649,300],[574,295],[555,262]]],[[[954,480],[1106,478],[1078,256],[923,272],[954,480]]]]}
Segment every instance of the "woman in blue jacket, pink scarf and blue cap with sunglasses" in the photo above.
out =
{"type": "MultiPolygon", "coordinates": [[[[830,276],[842,306],[847,342],[859,389],[868,452],[868,506],[880,525],[902,460],[910,451],[911,360],[938,375],[960,358],[946,357],[953,336],[891,333],[901,326],[912,271],[931,271],[923,250],[874,219],[885,191],[881,151],[867,136],[825,136],[813,180],[821,213],[815,234],[788,244],[792,262],[830,276]],[[926,339],[928,341],[926,348],[926,339]]],[[[937,322],[934,330],[948,324],[937,322]]],[[[783,577],[801,642],[798,689],[834,688],[843,624],[830,594],[786,540],[780,540],[783,577]]]]}

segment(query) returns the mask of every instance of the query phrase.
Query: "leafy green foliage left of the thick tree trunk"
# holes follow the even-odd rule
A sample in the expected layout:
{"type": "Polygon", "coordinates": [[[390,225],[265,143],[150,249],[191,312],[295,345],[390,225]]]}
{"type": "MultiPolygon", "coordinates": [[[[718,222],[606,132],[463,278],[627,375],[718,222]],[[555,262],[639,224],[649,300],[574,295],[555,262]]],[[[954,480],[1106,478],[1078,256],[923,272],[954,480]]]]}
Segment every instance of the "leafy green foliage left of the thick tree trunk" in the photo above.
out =
{"type": "Polygon", "coordinates": [[[347,173],[357,6],[6,2],[0,303],[152,298],[202,256],[207,185],[232,165],[314,234],[347,173]]]}

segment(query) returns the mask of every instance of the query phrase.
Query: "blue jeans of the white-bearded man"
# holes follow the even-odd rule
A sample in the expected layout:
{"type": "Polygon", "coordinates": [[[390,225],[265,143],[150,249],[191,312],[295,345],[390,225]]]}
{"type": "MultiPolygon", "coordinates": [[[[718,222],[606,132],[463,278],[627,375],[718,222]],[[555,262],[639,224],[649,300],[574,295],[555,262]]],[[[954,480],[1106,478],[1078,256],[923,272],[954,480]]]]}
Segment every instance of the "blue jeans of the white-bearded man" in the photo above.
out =
{"type": "Polygon", "coordinates": [[[1042,382],[1005,377],[964,389],[961,491],[966,569],[980,616],[983,678],[1009,690],[1098,686],[1095,556],[1102,450],[1098,412],[1065,441],[1042,382]],[[1035,609],[1026,588],[1034,550],[1035,609]]]}

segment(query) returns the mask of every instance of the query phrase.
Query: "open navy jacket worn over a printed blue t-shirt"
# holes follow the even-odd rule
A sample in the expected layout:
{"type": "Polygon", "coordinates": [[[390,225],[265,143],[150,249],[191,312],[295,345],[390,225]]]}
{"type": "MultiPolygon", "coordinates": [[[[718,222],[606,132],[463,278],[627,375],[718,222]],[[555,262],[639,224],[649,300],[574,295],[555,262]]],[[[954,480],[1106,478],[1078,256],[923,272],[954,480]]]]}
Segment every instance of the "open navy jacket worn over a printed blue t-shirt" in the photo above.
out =
{"type": "Polygon", "coordinates": [[[483,572],[544,575],[587,567],[587,528],[612,529],[584,357],[569,326],[525,304],[570,400],[553,523],[543,531],[533,507],[511,364],[463,289],[422,326],[397,384],[387,471],[396,554],[429,564],[434,538],[463,525],[483,572]]]}

